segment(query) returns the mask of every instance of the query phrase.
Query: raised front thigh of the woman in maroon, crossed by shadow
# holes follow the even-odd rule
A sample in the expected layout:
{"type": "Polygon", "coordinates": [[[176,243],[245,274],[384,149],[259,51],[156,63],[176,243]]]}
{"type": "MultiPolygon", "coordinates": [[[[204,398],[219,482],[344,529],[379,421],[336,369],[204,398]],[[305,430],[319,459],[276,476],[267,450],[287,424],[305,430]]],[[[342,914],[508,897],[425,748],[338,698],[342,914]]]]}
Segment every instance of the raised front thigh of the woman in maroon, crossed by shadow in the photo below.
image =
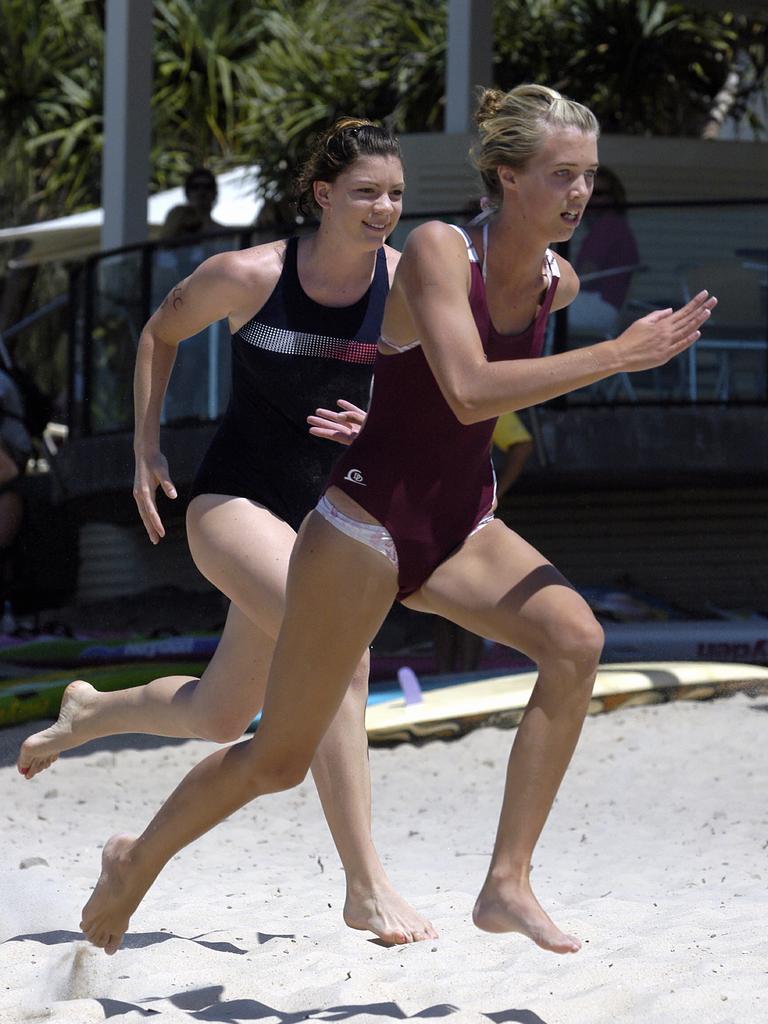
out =
{"type": "Polygon", "coordinates": [[[403,604],[536,660],[566,623],[592,614],[562,573],[499,519],[469,537],[403,604]]]}

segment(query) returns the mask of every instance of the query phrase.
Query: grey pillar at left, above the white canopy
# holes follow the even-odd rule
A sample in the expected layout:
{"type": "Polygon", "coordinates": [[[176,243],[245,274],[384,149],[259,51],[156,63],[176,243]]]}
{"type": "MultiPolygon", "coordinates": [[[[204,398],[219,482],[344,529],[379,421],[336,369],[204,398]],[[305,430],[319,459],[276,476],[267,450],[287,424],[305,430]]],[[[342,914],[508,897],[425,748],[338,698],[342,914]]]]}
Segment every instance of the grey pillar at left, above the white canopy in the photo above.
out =
{"type": "Polygon", "coordinates": [[[102,249],[146,238],[152,15],[153,0],[106,0],[102,249]]]}

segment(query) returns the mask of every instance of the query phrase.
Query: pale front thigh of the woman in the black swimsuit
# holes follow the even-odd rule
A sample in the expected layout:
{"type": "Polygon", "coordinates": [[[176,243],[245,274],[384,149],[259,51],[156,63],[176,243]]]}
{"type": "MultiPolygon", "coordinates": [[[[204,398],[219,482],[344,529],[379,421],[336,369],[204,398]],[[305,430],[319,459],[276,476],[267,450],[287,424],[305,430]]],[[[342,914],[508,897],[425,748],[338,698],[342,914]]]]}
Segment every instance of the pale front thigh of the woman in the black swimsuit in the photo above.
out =
{"type": "Polygon", "coordinates": [[[283,621],[296,534],[268,509],[223,495],[199,495],[186,513],[195,564],[266,636],[283,621]]]}

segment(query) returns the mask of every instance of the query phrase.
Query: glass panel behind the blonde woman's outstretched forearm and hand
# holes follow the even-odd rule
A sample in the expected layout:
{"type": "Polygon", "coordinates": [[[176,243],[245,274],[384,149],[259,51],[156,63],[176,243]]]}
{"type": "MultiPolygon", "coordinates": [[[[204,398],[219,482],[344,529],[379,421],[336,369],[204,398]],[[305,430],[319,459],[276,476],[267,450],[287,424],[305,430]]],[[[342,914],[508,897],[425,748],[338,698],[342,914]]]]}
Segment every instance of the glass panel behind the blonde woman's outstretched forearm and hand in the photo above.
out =
{"type": "Polygon", "coordinates": [[[643,206],[588,213],[568,250],[582,291],[567,309],[566,347],[615,337],[651,309],[702,288],[718,306],[688,352],[567,396],[604,401],[768,398],[768,206],[643,206]]]}

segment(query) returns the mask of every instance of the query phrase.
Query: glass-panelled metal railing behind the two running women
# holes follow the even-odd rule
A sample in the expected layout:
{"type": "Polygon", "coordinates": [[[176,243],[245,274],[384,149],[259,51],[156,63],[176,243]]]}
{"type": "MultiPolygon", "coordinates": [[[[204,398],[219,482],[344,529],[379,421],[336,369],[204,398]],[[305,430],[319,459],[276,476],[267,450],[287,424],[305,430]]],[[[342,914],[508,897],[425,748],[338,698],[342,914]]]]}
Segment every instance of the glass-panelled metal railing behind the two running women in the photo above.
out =
{"type": "MultiPolygon", "coordinates": [[[[390,244],[429,217],[403,217],[390,244]]],[[[440,219],[462,223],[466,213],[440,219]]],[[[720,304],[688,353],[658,370],[620,374],[559,399],[566,406],[768,401],[768,202],[643,203],[612,211],[634,242],[635,257],[587,265],[588,219],[561,252],[580,270],[583,290],[553,317],[548,351],[611,337],[653,308],[677,306],[707,287],[720,304]],[[582,267],[585,263],[587,268],[582,267]],[[604,287],[611,282],[611,287],[604,287]],[[617,286],[617,287],[615,287],[617,286]],[[592,322],[590,316],[593,317],[592,322]]],[[[592,217],[592,215],[590,215],[592,217]]],[[[222,231],[191,243],[153,242],[100,253],[72,274],[70,427],[74,435],[132,428],[132,380],[143,324],[174,284],[213,253],[270,241],[292,228],[222,231]]],[[[600,247],[597,247],[600,248],[600,247]]],[[[217,420],[229,389],[225,323],[180,346],[164,408],[167,424],[217,420]]]]}

